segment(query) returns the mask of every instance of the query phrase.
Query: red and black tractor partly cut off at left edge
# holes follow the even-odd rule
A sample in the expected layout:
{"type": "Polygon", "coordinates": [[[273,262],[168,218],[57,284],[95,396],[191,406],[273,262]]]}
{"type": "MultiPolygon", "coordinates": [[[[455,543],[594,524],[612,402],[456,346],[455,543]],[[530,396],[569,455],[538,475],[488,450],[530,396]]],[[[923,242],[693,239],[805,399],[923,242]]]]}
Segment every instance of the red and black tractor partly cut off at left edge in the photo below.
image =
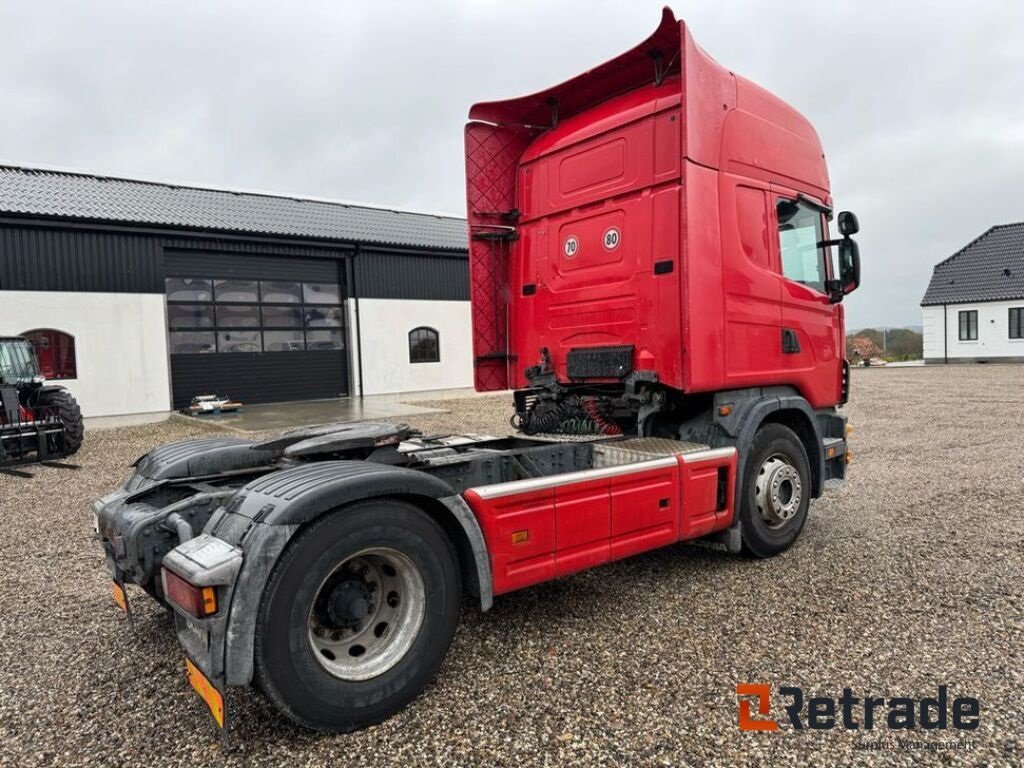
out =
{"type": "Polygon", "coordinates": [[[84,433],[78,402],[46,383],[32,343],[0,337],[0,468],[71,456],[84,433]]]}

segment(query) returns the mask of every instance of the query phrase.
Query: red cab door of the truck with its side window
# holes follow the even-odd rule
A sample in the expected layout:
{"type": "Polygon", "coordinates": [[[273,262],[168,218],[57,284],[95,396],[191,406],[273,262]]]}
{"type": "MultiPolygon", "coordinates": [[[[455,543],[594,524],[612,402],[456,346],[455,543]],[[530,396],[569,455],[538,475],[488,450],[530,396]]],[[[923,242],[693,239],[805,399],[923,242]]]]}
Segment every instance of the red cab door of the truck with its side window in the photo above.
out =
{"type": "Polygon", "coordinates": [[[796,191],[772,186],[774,248],[782,275],[782,328],[778,339],[782,378],[796,385],[813,407],[840,397],[843,353],[838,348],[840,305],[826,286],[831,263],[825,216],[796,191]]]}

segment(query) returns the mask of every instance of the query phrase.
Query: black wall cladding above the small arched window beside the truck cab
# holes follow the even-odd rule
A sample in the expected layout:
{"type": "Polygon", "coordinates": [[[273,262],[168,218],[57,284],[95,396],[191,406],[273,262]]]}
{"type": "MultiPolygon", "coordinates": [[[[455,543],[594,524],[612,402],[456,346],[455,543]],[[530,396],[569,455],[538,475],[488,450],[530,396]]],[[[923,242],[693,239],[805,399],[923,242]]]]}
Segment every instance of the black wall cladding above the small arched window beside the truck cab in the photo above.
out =
{"type": "Polygon", "coordinates": [[[465,255],[364,250],[353,262],[354,293],[368,299],[469,301],[465,255]]]}

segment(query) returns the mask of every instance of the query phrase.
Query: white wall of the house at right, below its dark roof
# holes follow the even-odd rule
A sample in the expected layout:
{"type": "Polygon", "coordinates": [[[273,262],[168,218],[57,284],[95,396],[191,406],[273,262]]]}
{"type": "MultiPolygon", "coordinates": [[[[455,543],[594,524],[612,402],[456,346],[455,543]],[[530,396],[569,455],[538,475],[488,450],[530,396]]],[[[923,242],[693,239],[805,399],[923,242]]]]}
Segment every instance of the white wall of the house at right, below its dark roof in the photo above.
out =
{"type": "Polygon", "coordinates": [[[925,359],[939,360],[981,358],[997,360],[1000,357],[1024,358],[1024,339],[1010,338],[1010,307],[1024,307],[1024,299],[1017,301],[986,301],[976,304],[948,304],[945,307],[945,325],[941,306],[922,307],[925,359]],[[978,340],[959,340],[959,312],[978,310],[978,340]],[[942,331],[946,332],[943,349],[942,331]]]}

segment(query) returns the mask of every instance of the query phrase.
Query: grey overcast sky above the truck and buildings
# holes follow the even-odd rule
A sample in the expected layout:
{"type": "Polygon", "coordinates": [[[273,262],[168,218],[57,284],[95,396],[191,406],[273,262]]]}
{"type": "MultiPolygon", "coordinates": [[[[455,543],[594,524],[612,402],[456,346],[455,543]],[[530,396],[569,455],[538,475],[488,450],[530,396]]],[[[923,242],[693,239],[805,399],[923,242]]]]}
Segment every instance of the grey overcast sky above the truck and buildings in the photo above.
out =
{"type": "MultiPolygon", "coordinates": [[[[662,2],[0,0],[0,161],[464,214],[462,126],[632,47],[662,2]]],[[[806,115],[864,262],[848,325],[1024,220],[1024,3],[676,2],[806,115]]]]}

